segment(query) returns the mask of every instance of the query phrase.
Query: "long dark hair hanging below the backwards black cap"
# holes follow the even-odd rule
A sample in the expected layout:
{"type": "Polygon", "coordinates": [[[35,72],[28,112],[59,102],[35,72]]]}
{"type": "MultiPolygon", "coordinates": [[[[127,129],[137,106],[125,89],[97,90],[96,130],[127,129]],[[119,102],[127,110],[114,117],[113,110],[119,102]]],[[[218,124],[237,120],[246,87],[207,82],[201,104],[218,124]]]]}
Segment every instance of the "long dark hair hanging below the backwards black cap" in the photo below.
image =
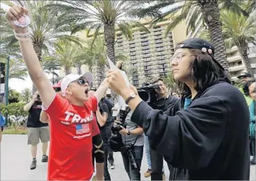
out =
{"type": "MultiPolygon", "coordinates": [[[[189,72],[195,82],[195,90],[202,92],[208,87],[211,87],[219,80],[224,80],[231,84],[231,80],[224,70],[214,63],[212,56],[199,50],[190,49],[190,54],[195,57],[195,60],[190,63],[189,72]]],[[[178,82],[182,95],[190,95],[190,89],[184,82],[178,82]]]]}

